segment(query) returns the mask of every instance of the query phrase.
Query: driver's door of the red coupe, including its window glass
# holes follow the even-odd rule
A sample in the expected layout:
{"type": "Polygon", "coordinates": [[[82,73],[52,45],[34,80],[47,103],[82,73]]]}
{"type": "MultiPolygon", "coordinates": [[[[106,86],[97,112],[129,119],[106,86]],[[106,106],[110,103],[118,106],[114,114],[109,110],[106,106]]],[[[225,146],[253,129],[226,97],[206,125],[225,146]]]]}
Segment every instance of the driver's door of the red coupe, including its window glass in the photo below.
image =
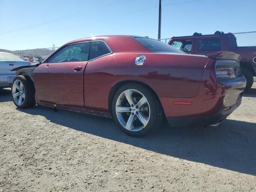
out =
{"type": "Polygon", "coordinates": [[[36,68],[34,85],[38,102],[84,108],[84,70],[91,44],[64,46],[36,68]]]}

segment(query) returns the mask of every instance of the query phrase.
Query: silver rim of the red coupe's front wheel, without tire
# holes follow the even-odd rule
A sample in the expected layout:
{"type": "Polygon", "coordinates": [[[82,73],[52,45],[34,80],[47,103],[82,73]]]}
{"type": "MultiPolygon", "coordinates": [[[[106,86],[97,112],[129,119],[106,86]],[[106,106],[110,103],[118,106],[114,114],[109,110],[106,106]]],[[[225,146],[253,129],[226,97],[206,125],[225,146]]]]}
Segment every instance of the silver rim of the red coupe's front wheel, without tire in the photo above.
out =
{"type": "Polygon", "coordinates": [[[25,89],[23,83],[16,79],[12,85],[12,97],[17,105],[22,105],[25,100],[25,89]]]}

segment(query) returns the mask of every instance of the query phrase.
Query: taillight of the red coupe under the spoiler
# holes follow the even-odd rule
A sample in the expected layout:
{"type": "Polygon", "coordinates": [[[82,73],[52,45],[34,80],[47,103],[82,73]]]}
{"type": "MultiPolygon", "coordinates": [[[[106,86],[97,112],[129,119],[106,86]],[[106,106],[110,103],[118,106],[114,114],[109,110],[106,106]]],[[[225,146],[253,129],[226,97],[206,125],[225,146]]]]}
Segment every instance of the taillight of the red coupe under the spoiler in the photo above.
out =
{"type": "Polygon", "coordinates": [[[216,67],[216,76],[218,79],[230,79],[240,76],[240,68],[237,66],[218,66],[216,67]]]}

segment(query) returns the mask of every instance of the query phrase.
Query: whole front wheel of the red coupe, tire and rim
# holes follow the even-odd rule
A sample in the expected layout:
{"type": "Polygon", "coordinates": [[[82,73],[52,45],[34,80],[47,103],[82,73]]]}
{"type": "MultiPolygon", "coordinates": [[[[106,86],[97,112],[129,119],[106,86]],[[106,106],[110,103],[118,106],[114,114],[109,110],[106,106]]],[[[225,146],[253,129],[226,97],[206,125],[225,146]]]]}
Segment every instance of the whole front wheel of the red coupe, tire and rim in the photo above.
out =
{"type": "Polygon", "coordinates": [[[35,101],[34,84],[32,80],[23,75],[16,76],[12,83],[12,100],[18,108],[30,108],[35,101]]]}

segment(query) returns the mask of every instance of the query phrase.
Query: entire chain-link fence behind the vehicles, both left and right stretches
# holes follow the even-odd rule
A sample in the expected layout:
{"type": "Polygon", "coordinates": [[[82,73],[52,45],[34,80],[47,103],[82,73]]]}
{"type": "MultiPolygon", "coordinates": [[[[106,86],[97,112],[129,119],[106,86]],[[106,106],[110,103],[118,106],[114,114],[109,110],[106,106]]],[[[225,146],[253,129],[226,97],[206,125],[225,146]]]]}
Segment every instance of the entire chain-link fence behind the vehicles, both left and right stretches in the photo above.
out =
{"type": "MultiPolygon", "coordinates": [[[[241,32],[241,33],[233,33],[236,36],[237,46],[256,46],[256,31],[252,32],[241,32]]],[[[170,38],[159,39],[164,43],[168,43],[170,38]]],[[[28,60],[28,58],[32,57],[34,62],[42,62],[44,61],[50,54],[52,54],[59,47],[50,47],[50,48],[37,48],[37,49],[27,49],[27,50],[16,50],[16,51],[8,51],[10,53],[16,54],[23,58],[24,60],[28,60]]],[[[0,50],[1,51],[1,50],[0,50]]]]}

